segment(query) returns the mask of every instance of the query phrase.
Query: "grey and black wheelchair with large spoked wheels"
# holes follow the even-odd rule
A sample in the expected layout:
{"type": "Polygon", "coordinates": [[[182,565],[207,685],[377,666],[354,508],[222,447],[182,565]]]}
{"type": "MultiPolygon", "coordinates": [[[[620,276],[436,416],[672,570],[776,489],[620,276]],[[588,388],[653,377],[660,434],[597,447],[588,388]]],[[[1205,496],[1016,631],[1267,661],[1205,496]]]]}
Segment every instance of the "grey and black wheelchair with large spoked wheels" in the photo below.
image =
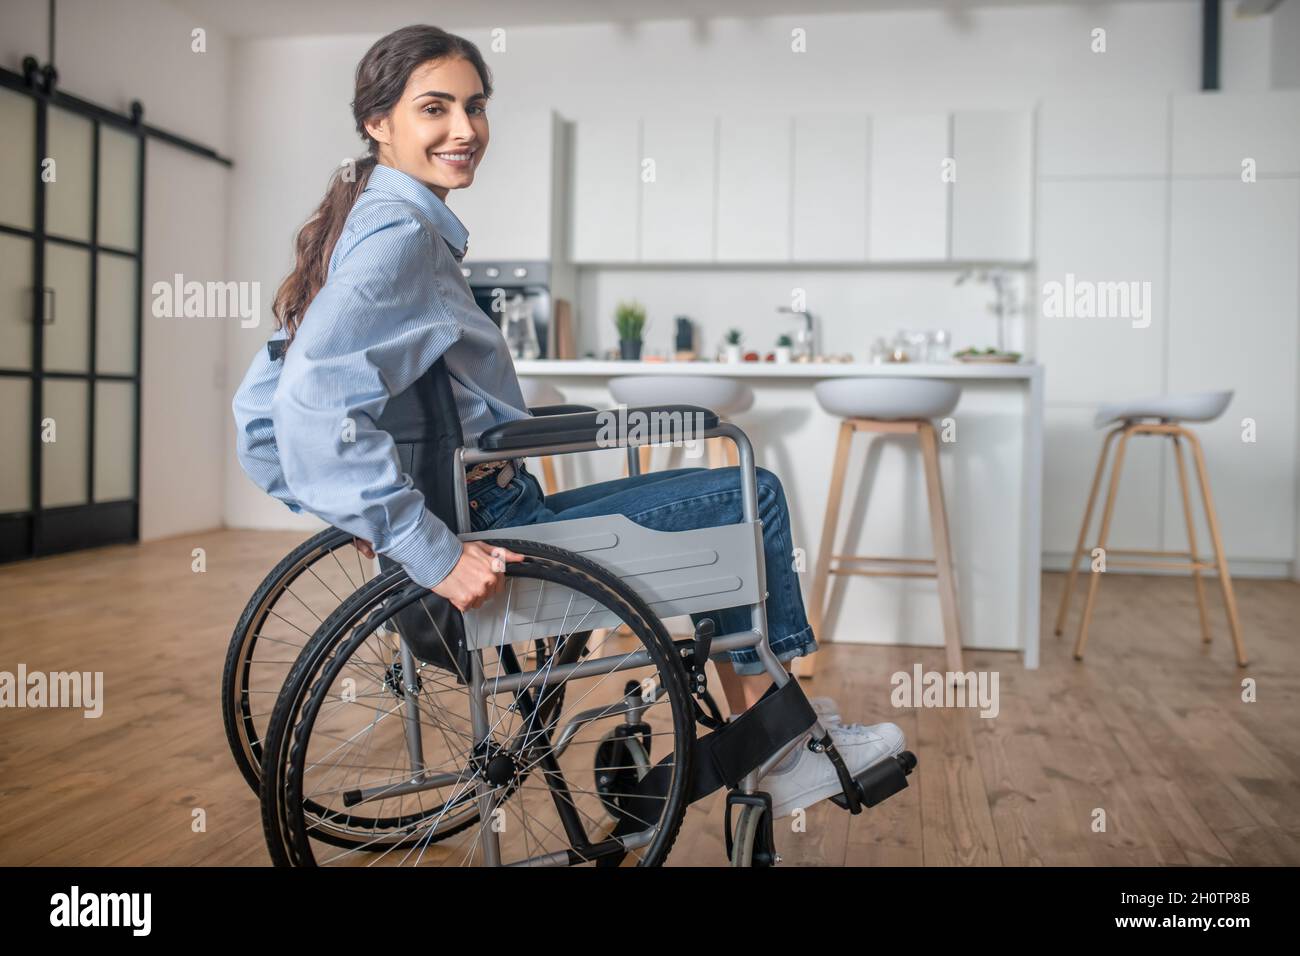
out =
{"type": "MultiPolygon", "coordinates": [[[[269,715],[250,718],[239,737],[246,761],[260,757],[246,778],[256,778],[273,862],[658,865],[688,805],[725,788],[729,862],[771,866],[772,803],[759,782],[796,747],[832,762],[842,791],[832,801],[850,813],[907,787],[916,760],[906,750],[850,775],[768,646],[754,458],[738,427],[706,408],[663,406],[534,410],[472,447],[458,441],[459,420],[447,428],[454,434],[432,440],[426,459],[438,472],[424,489],[430,510],[462,540],[524,561],[507,563],[498,593],[463,614],[399,566],[384,568],[302,643],[269,715]],[[611,444],[620,414],[676,433],[620,433],[611,444]],[[682,437],[736,445],[738,523],[660,532],[601,515],[472,531],[469,466],[618,445],[636,473],[638,445],[682,437]],[[748,607],[750,628],[715,633],[705,615],[720,607],[748,607]],[[684,615],[693,633],[673,639],[664,622],[684,615]],[[772,684],[724,722],[705,666],[737,648],[755,650],[772,684]],[[697,724],[708,732],[697,736],[697,724]]],[[[283,576],[309,554],[308,566],[337,558],[337,546],[320,550],[334,535],[317,536],[317,551],[304,544],[296,563],[286,557],[283,576]]],[[[265,620],[256,597],[250,623],[265,620]]]]}

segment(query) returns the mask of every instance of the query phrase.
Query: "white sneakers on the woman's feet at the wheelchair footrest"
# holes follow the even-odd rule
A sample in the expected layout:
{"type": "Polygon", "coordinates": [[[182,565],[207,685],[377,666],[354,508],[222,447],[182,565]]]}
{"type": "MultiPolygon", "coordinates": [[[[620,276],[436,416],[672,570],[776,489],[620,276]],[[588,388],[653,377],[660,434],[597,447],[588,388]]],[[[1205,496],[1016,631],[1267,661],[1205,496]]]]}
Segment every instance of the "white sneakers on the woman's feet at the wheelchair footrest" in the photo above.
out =
{"type": "MultiPolygon", "coordinates": [[[[827,727],[835,749],[844,758],[850,777],[857,777],[874,763],[902,752],[904,736],[898,724],[854,723],[827,727]]],[[[814,753],[803,740],[784,766],[771,770],[759,784],[772,795],[772,818],[788,817],[800,806],[809,808],[836,793],[842,793],[835,765],[824,753],[814,753]]]]}

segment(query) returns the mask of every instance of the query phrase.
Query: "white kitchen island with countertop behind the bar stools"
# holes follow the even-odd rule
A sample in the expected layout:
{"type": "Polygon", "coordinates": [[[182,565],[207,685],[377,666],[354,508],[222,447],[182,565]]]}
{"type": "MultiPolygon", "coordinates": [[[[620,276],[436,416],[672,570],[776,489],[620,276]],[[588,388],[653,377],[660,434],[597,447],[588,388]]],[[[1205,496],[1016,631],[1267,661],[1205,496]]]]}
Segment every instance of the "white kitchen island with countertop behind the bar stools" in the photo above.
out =
{"type": "MultiPolygon", "coordinates": [[[[742,377],[754,406],[734,416],[759,466],[776,472],[802,549],[805,601],[812,591],[840,420],[822,410],[812,385],[823,378],[879,376],[956,381],[962,398],[952,441],[940,444],[944,494],[957,566],[962,643],[1019,650],[1039,665],[1039,572],[1043,502],[1043,367],[1037,364],[838,364],[712,362],[516,362],[520,377],[543,377],[568,402],[614,405],[608,380],[623,375],[742,377]]],[[[944,428],[936,423],[942,437],[944,428]]],[[[667,446],[653,467],[670,466],[667,446]]],[[[681,449],[671,467],[702,466],[681,449]]],[[[564,455],[566,488],[623,475],[621,450],[564,455]]],[[[533,470],[537,473],[537,470],[533,470]]],[[[1080,502],[1082,507],[1082,502],[1080,502]]],[[[859,434],[849,463],[836,553],[927,558],[932,554],[926,479],[914,438],[859,434]]],[[[932,579],[833,575],[826,633],[819,640],[942,646],[932,579]]]]}

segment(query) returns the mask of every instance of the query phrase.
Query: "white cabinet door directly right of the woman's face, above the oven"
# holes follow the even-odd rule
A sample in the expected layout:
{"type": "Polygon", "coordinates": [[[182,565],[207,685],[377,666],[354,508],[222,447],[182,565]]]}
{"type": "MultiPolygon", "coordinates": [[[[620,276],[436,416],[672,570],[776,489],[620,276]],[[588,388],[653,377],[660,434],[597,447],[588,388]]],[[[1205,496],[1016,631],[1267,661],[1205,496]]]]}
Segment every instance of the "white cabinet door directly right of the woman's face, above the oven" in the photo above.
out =
{"type": "Polygon", "coordinates": [[[467,261],[551,258],[564,165],[563,121],[551,111],[493,113],[488,150],[469,189],[447,206],[469,230],[467,261]]]}

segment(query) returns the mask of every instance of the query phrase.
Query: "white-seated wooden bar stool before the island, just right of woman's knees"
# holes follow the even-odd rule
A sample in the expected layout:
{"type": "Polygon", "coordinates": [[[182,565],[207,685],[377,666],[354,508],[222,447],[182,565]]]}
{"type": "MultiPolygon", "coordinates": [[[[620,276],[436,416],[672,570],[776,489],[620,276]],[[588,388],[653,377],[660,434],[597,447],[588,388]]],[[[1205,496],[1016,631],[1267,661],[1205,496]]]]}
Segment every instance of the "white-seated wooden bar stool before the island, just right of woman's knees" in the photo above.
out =
{"type": "MultiPolygon", "coordinates": [[[[822,545],[818,549],[812,572],[812,600],[810,623],[820,640],[826,606],[827,581],[831,575],[862,575],[864,578],[935,578],[939,583],[939,602],[944,615],[944,645],[948,670],[962,671],[962,635],[957,611],[957,587],[953,580],[953,557],[948,537],[948,512],[944,507],[944,488],[939,475],[939,442],[931,419],[946,416],[961,398],[961,388],[939,378],[831,378],[812,388],[818,403],[840,423],[840,441],[831,470],[831,493],[827,498],[826,520],[822,525],[822,545]],[[887,434],[915,434],[920,442],[920,457],[926,467],[926,489],[930,503],[930,529],[933,558],[874,558],[857,554],[835,554],[836,525],[844,498],[845,470],[857,432],[887,434]],[[837,563],[884,564],[879,568],[837,567],[837,563]],[[909,568],[920,564],[930,568],[909,568]],[[902,566],[902,567],[897,567],[902,566]]],[[[801,657],[797,663],[800,676],[811,676],[815,656],[801,657]]]]}

